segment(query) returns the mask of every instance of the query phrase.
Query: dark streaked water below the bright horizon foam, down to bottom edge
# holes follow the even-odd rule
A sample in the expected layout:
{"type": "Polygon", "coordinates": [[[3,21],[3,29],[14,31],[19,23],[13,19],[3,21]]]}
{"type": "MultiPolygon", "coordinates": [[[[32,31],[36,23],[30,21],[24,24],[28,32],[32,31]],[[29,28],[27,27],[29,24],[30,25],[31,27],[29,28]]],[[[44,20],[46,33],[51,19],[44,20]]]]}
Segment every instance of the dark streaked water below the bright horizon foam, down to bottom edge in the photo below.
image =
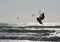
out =
{"type": "Polygon", "coordinates": [[[57,42],[60,41],[60,27],[11,27],[0,26],[0,42],[57,42]]]}

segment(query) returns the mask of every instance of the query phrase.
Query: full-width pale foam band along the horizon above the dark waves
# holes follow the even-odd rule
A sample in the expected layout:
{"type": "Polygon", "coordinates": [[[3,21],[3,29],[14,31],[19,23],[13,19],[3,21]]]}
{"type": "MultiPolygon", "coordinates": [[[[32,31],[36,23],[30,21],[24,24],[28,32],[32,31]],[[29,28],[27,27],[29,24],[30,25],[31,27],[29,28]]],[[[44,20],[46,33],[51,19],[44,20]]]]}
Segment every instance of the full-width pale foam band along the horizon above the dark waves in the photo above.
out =
{"type": "Polygon", "coordinates": [[[49,22],[43,22],[43,24],[40,24],[38,22],[26,22],[26,23],[0,23],[0,26],[3,24],[3,26],[60,26],[59,23],[49,23],[49,22]]]}

